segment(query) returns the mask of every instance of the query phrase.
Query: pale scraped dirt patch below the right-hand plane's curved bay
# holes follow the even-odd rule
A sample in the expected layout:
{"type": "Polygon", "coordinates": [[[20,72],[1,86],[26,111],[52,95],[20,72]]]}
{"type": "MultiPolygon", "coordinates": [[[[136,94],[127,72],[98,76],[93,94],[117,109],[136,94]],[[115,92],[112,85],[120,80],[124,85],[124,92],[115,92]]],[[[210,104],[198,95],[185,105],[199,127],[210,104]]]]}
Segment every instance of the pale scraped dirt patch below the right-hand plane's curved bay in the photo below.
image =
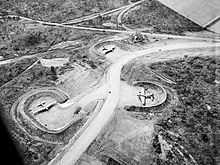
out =
{"type": "MultiPolygon", "coordinates": [[[[114,118],[97,137],[101,141],[99,143],[103,143],[101,145],[103,148],[100,150],[103,153],[121,153],[126,157],[140,161],[149,154],[154,123],[154,120],[141,121],[129,116],[122,109],[116,109],[114,118]],[[112,141],[114,145],[108,145],[112,141]]],[[[94,150],[94,154],[96,152],[99,151],[94,150]]]]}

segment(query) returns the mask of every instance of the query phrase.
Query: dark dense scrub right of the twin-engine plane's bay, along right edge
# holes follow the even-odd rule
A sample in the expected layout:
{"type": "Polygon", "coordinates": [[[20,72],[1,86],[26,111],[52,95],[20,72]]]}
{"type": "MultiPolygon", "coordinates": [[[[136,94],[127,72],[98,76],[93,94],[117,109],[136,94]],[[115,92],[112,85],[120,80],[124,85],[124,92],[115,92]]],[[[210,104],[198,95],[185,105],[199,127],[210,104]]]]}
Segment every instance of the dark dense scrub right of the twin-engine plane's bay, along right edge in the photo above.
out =
{"type": "Polygon", "coordinates": [[[158,123],[181,135],[182,145],[198,164],[215,165],[220,155],[220,85],[215,82],[220,59],[191,57],[150,66],[177,84],[180,103],[172,115],[158,123]],[[168,122],[169,121],[169,122],[168,122]]]}

